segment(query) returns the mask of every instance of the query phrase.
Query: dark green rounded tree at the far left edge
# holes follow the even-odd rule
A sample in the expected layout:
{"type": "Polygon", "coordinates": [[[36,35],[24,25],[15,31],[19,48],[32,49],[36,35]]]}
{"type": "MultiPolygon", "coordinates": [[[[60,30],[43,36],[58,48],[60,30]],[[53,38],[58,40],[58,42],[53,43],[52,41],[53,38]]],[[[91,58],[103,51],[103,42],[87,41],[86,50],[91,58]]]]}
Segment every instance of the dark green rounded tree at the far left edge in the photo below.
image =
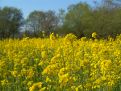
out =
{"type": "Polygon", "coordinates": [[[0,37],[15,37],[22,24],[22,13],[14,7],[4,7],[0,10],[0,37]]]}

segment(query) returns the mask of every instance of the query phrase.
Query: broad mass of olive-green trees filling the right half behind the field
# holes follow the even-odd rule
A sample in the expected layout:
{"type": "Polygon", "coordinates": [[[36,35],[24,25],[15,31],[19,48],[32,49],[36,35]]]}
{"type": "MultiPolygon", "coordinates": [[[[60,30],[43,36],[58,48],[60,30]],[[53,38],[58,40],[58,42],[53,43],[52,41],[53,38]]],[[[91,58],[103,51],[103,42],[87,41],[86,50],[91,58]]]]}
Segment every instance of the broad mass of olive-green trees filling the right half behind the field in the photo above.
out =
{"type": "Polygon", "coordinates": [[[90,38],[93,32],[97,32],[99,38],[115,37],[121,33],[121,7],[113,7],[113,3],[96,8],[85,3],[71,5],[61,31],[78,37],[90,38]]]}

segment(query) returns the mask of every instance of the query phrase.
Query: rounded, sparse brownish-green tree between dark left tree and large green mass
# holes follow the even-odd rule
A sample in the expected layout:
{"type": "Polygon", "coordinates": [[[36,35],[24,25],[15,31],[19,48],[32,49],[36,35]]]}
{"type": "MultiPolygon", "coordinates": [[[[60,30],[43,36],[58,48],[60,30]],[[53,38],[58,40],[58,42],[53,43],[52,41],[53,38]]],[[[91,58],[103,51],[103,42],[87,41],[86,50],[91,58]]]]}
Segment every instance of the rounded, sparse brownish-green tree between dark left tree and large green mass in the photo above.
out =
{"type": "Polygon", "coordinates": [[[47,34],[53,32],[58,25],[58,18],[53,11],[33,11],[27,18],[27,25],[28,30],[38,37],[42,31],[47,34]]]}

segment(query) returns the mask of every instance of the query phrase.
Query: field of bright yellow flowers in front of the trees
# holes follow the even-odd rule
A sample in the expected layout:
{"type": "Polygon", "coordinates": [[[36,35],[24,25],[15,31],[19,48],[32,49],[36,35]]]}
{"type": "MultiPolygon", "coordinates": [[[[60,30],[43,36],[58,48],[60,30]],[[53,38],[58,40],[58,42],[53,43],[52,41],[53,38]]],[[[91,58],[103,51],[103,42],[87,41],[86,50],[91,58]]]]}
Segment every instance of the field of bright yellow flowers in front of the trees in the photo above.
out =
{"type": "Polygon", "coordinates": [[[0,40],[0,91],[121,91],[121,35],[0,40]]]}

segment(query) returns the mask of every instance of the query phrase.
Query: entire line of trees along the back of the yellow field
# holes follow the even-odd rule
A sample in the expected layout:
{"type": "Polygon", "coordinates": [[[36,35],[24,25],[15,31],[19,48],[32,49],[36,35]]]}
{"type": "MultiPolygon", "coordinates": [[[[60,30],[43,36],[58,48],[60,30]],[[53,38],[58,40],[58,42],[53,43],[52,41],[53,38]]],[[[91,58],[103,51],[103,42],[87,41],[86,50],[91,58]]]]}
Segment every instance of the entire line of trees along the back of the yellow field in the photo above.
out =
{"type": "Polygon", "coordinates": [[[60,9],[59,13],[35,10],[26,19],[20,9],[0,8],[0,38],[48,37],[52,32],[61,36],[74,33],[78,38],[90,38],[93,32],[98,38],[121,34],[121,1],[94,3],[92,7],[79,2],[70,5],[67,11],[60,9]]]}

